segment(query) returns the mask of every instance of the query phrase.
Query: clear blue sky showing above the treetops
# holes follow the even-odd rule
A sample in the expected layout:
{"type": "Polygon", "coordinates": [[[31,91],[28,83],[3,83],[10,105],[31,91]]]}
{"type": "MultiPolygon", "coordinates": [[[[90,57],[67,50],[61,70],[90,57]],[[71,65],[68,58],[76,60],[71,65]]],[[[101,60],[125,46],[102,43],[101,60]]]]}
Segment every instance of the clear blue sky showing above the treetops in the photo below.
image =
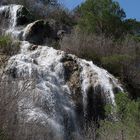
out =
{"type": "MultiPolygon", "coordinates": [[[[73,9],[84,0],[59,0],[67,8],[73,9]]],[[[116,0],[126,12],[127,18],[136,18],[140,21],[140,0],[116,0]]]]}

